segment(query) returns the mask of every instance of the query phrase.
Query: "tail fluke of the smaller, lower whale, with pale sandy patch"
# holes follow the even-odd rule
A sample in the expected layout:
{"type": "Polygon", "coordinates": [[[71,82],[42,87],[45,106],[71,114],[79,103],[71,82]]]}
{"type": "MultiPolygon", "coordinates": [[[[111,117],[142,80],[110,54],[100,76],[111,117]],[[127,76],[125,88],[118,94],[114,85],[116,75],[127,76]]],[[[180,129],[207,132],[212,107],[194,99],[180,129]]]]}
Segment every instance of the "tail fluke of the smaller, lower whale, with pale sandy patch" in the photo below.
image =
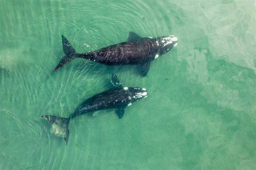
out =
{"type": "Polygon", "coordinates": [[[70,118],[62,118],[50,115],[43,115],[41,117],[53,123],[50,132],[54,133],[58,137],[63,137],[65,140],[65,145],[67,145],[69,135],[68,123],[70,118]]]}

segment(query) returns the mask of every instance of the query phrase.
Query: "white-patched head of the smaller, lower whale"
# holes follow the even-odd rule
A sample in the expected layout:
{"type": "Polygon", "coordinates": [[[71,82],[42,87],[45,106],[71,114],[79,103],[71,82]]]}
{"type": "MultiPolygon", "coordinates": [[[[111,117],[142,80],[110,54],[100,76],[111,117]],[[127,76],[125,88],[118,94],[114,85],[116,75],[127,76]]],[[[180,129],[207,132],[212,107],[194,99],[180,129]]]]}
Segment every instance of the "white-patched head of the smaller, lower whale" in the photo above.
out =
{"type": "Polygon", "coordinates": [[[129,94],[128,101],[131,103],[147,97],[147,90],[144,88],[124,87],[124,90],[127,90],[129,94]]]}

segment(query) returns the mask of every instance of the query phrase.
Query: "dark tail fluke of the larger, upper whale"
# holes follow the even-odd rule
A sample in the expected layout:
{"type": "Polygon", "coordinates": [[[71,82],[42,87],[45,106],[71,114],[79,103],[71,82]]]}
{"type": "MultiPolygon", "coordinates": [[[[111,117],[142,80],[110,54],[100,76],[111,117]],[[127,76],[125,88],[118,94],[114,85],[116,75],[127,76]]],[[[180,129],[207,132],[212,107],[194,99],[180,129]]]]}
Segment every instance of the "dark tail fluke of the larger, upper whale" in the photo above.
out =
{"type": "Polygon", "coordinates": [[[65,36],[62,35],[62,45],[63,45],[63,51],[66,56],[64,56],[61,60],[58,66],[54,69],[55,71],[58,71],[61,67],[63,67],[65,64],[69,63],[72,59],[76,58],[76,52],[70,42],[67,40],[65,36]]]}

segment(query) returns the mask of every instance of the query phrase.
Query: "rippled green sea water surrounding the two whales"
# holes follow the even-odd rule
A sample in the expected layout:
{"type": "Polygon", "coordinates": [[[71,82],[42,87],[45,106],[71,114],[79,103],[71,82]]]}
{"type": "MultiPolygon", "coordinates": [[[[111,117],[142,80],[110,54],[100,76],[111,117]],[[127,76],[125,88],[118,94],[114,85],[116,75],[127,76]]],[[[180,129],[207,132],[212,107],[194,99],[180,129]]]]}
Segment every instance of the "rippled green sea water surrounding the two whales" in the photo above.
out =
{"type": "Polygon", "coordinates": [[[0,169],[256,169],[255,1],[0,1],[0,169]],[[177,47],[141,78],[133,66],[64,56],[142,37],[177,47]],[[89,46],[88,46],[89,45],[89,46]],[[146,99],[70,121],[68,145],[41,115],[68,117],[110,88],[146,99]]]}

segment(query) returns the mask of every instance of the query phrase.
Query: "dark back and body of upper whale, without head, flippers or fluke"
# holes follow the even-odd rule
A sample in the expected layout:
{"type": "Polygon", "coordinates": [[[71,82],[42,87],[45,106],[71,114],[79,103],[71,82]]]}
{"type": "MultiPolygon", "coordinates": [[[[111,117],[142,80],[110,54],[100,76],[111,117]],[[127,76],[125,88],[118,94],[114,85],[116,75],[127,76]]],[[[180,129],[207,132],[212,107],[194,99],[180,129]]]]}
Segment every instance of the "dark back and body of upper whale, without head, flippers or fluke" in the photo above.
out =
{"type": "Polygon", "coordinates": [[[153,60],[158,52],[156,41],[157,38],[142,38],[121,42],[93,52],[77,54],[77,57],[106,65],[143,64],[153,60]]]}

